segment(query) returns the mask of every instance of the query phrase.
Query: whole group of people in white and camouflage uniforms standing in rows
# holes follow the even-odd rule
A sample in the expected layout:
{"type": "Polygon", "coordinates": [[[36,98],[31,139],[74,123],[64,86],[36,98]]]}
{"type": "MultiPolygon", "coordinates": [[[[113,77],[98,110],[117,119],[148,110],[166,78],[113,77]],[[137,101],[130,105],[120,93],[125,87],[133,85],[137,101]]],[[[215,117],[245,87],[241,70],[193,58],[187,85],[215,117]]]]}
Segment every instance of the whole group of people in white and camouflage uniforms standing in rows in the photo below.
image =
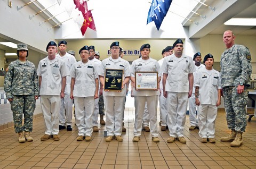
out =
{"type": "MultiPolygon", "coordinates": [[[[96,105],[99,100],[96,101],[96,99],[103,95],[106,112],[106,141],[113,139],[123,141],[121,134],[124,130],[126,85],[131,80],[135,106],[134,142],[140,140],[142,122],[145,119],[145,105],[147,105],[147,120],[150,122],[152,140],[159,142],[157,132],[159,97],[161,130],[169,129],[170,137],[167,142],[179,140],[181,143],[186,143],[183,130],[189,100],[191,123],[189,130],[199,126],[201,142],[209,140],[214,143],[214,124],[217,106],[221,102],[221,88],[223,88],[228,128],[231,129],[231,134],[221,138],[221,141],[233,141],[231,146],[241,146],[242,133],[246,126],[247,86],[250,86],[252,67],[249,49],[236,45],[234,39],[232,31],[225,31],[223,34],[227,49],[221,56],[221,73],[213,69],[214,59],[211,54],[204,57],[205,66],[201,64],[201,53],[196,53],[193,58],[183,54],[181,39],[177,39],[173,46],[167,46],[162,52],[163,58],[158,62],[149,56],[150,45],[142,45],[141,57],[133,61],[131,66],[129,62],[119,57],[121,49],[118,41],[110,45],[111,56],[102,62],[94,58],[94,46],[83,46],[79,50],[81,61],[76,62],[74,56],[69,57],[66,54],[66,41],[60,41],[58,44],[60,50],[58,55],[56,55],[57,44],[50,41],[46,47],[48,56],[39,62],[37,71],[35,65],[26,60],[27,45],[18,44],[19,60],[9,65],[4,89],[6,98],[11,103],[14,128],[15,132],[19,133],[19,142],[33,141],[29,132],[32,131],[35,99],[38,99],[39,95],[46,126],[41,140],[51,137],[59,140],[59,130],[65,129],[66,125],[68,131],[72,130],[70,119],[72,114],[69,116],[65,106],[67,102],[72,105],[71,99],[74,99],[75,123],[78,126],[77,141],[84,139],[91,141],[92,132],[97,131],[95,127],[98,128],[99,108],[97,110],[96,105]],[[121,91],[104,89],[106,69],[123,70],[121,91]],[[135,89],[135,72],[157,72],[159,89],[135,89]],[[25,117],[24,125],[22,125],[22,114],[25,117]],[[23,131],[25,131],[24,136],[23,131]]],[[[103,115],[100,122],[104,122],[103,115]]]]}

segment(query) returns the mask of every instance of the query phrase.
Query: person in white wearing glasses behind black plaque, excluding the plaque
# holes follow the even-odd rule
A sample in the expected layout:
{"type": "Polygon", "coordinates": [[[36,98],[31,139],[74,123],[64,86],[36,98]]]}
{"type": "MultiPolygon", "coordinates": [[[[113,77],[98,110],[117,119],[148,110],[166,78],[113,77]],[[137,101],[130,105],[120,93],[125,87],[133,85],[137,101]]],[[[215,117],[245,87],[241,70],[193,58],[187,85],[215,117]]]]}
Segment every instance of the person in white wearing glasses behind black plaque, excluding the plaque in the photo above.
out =
{"type": "MultiPolygon", "coordinates": [[[[122,91],[103,90],[103,98],[106,111],[106,129],[107,142],[114,138],[117,141],[123,141],[122,123],[124,100],[126,97],[126,84],[130,80],[130,64],[128,61],[119,57],[119,42],[115,41],[110,45],[111,56],[101,62],[99,69],[100,83],[105,85],[106,69],[122,69],[123,70],[123,86],[122,91]]],[[[104,86],[102,87],[104,88],[104,86]]]]}

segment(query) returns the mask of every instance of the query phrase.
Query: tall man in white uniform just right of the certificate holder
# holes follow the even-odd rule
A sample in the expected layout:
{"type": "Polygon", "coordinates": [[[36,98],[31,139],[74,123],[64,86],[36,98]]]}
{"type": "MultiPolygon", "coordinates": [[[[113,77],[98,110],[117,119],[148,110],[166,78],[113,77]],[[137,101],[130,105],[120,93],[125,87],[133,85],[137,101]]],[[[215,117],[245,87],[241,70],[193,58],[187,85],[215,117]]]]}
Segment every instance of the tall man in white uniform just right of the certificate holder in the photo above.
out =
{"type": "Polygon", "coordinates": [[[173,44],[174,54],[164,58],[163,74],[164,97],[167,98],[167,125],[170,137],[167,142],[179,140],[186,143],[183,130],[186,121],[188,98],[192,95],[193,72],[196,67],[192,57],[183,54],[183,41],[173,44]]]}

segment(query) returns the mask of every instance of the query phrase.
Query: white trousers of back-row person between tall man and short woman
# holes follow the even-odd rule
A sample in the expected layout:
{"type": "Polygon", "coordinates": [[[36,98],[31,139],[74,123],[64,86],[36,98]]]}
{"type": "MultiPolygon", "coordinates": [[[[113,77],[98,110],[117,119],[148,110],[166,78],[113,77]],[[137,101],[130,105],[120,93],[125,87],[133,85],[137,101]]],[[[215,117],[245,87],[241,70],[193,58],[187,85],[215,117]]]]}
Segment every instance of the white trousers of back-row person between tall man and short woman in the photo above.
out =
{"type": "MultiPolygon", "coordinates": [[[[197,126],[198,120],[196,115],[196,96],[195,93],[192,93],[191,97],[188,98],[188,107],[189,107],[189,121],[190,125],[197,126]]],[[[197,108],[198,113],[198,108],[197,108]]]]}

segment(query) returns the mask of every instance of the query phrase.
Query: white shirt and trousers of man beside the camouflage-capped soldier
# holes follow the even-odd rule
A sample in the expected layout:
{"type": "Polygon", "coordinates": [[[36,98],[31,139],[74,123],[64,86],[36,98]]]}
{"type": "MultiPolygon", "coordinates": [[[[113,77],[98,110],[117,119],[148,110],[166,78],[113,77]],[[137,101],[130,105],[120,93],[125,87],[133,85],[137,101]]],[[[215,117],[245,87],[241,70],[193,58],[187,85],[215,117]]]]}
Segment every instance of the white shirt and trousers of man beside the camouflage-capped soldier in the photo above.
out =
{"type": "Polygon", "coordinates": [[[37,75],[42,77],[40,102],[46,126],[45,134],[58,134],[61,80],[69,75],[69,70],[59,57],[49,60],[47,56],[39,62],[37,75]]]}

